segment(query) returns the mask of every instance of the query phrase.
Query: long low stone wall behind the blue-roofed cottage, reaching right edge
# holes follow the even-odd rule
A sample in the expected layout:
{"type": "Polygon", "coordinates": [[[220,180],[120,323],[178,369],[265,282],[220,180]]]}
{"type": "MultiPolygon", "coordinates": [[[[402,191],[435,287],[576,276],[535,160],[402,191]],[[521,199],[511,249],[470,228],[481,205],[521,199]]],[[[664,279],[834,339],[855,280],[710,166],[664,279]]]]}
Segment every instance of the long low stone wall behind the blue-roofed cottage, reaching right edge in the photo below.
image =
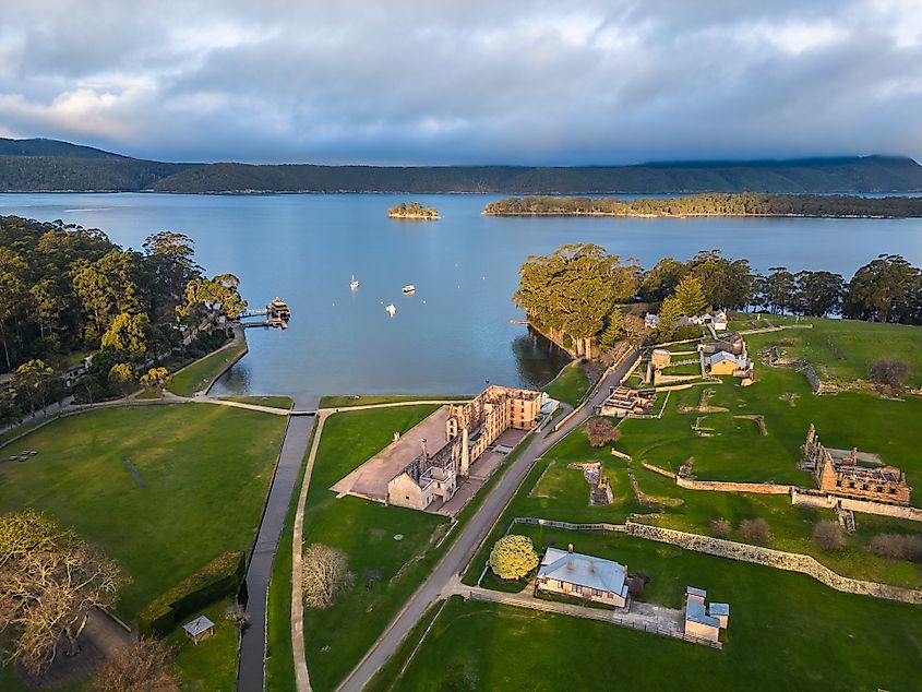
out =
{"type": "Polygon", "coordinates": [[[890,586],[889,584],[878,584],[877,582],[865,582],[842,576],[833,572],[829,568],[819,564],[819,562],[810,556],[773,550],[771,548],[763,548],[762,546],[750,546],[732,540],[711,538],[710,536],[699,536],[698,534],[687,534],[660,526],[635,524],[633,522],[627,522],[626,528],[627,533],[632,536],[672,544],[685,550],[695,550],[720,558],[762,564],[775,568],[776,570],[807,574],[839,592],[922,606],[922,589],[902,588],[890,586]]]}

